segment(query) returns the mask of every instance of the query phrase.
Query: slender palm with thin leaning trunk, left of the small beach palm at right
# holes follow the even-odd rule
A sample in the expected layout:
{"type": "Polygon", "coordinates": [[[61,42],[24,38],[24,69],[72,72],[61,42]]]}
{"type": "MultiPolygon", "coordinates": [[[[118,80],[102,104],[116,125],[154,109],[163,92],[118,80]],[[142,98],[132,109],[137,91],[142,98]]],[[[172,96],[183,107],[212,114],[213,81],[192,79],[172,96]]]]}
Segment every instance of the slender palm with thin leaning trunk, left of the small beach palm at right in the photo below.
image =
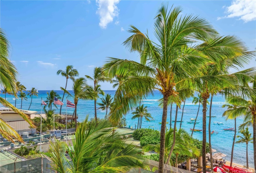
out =
{"type": "Polygon", "coordinates": [[[227,97],[227,103],[229,104],[223,104],[222,108],[227,108],[227,110],[223,113],[223,116],[226,117],[226,120],[232,119],[235,121],[235,135],[233,138],[233,144],[232,144],[232,150],[231,150],[231,160],[230,160],[230,166],[232,166],[233,162],[233,154],[234,154],[234,146],[235,146],[235,141],[236,141],[236,118],[238,116],[241,116],[239,114],[233,114],[232,110],[238,108],[237,101],[240,100],[240,97],[238,96],[232,96],[231,94],[227,97]]]}

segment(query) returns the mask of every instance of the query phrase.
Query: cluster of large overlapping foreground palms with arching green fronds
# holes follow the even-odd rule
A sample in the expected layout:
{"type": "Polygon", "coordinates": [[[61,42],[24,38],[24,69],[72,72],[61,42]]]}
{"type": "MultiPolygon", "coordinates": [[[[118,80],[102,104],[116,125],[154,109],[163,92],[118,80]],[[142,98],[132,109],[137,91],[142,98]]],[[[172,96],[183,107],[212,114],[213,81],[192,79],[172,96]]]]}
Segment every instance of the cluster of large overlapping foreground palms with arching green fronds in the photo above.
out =
{"type": "MultiPolygon", "coordinates": [[[[221,36],[207,20],[193,15],[181,16],[181,12],[182,8],[179,6],[172,7],[171,10],[168,10],[167,4],[159,7],[154,24],[156,38],[153,40],[156,41],[152,41],[147,33],[144,34],[135,26],[130,26],[128,32],[132,35],[124,41],[124,45],[131,52],[139,53],[140,62],[110,57],[103,65],[103,71],[108,78],[126,77],[118,85],[114,97],[115,104],[109,113],[113,122],[118,122],[123,115],[136,107],[141,98],[153,95],[155,90],[162,94],[160,173],[163,173],[164,167],[167,107],[176,103],[178,108],[181,102],[185,102],[187,93],[182,93],[182,90],[192,90],[192,95],[197,92],[202,98],[202,155],[206,154],[206,112],[210,96],[213,97],[218,92],[222,92],[225,97],[229,93],[243,97],[256,95],[255,88],[248,85],[249,82],[255,81],[254,68],[232,74],[229,72],[231,68],[243,68],[255,53],[248,51],[245,43],[238,37],[221,36]],[[173,98],[176,101],[172,101],[173,98]]],[[[211,105],[212,102],[209,112],[211,105]]],[[[252,115],[248,115],[247,119],[253,120],[255,116],[252,115]]],[[[176,121],[177,118],[174,129],[176,121]]],[[[174,135],[173,141],[175,138],[174,135]]],[[[254,143],[256,147],[256,142],[254,143]]],[[[174,146],[175,142],[169,156],[174,146]]],[[[205,157],[202,163],[203,173],[206,173],[205,157]]]]}

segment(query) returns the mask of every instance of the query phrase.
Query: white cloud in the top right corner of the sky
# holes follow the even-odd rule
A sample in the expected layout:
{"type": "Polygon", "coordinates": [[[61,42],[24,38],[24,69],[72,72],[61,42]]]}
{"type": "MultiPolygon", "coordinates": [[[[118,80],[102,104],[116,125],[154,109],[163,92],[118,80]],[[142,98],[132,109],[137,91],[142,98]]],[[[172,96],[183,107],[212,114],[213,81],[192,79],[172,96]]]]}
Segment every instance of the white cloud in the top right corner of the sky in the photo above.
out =
{"type": "Polygon", "coordinates": [[[256,1],[233,0],[231,6],[226,7],[226,13],[228,15],[218,17],[217,20],[234,17],[239,17],[245,23],[256,20],[256,1]]]}

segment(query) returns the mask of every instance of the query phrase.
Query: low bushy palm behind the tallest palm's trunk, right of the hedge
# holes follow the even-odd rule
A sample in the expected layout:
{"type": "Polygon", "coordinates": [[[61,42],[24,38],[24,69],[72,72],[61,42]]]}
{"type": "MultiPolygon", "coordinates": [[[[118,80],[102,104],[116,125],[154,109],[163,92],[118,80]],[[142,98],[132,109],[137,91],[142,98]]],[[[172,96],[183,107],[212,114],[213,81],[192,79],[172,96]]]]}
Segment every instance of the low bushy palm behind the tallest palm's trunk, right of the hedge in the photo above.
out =
{"type": "MultiPolygon", "coordinates": [[[[200,154],[201,154],[200,150],[192,145],[193,138],[186,132],[185,129],[179,129],[176,132],[175,136],[176,137],[175,137],[175,145],[173,148],[173,152],[176,155],[176,162],[175,162],[176,167],[178,165],[177,157],[179,154],[185,154],[190,157],[193,157],[193,156],[199,157],[200,156],[200,154]]],[[[173,145],[173,129],[170,129],[165,133],[165,149],[164,149],[164,160],[165,161],[168,160],[168,154],[170,153],[172,145],[173,145]]],[[[160,144],[157,144],[157,145],[149,144],[149,145],[144,146],[143,149],[145,152],[155,151],[155,152],[159,153],[160,144]]],[[[167,164],[173,165],[171,160],[168,160],[167,164]]]]}

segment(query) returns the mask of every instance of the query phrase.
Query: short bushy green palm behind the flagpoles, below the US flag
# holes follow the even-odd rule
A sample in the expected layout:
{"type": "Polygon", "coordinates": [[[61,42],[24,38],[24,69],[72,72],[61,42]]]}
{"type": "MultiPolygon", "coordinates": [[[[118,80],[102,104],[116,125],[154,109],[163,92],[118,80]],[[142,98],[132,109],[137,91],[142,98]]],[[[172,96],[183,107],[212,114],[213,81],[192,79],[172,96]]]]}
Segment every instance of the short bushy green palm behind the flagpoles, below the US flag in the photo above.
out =
{"type": "Polygon", "coordinates": [[[42,126],[45,127],[47,130],[51,130],[53,129],[53,127],[65,127],[64,124],[58,123],[58,122],[54,122],[54,115],[53,115],[53,111],[51,110],[46,110],[45,108],[43,108],[44,112],[45,112],[45,117],[42,118],[42,126]]]}

